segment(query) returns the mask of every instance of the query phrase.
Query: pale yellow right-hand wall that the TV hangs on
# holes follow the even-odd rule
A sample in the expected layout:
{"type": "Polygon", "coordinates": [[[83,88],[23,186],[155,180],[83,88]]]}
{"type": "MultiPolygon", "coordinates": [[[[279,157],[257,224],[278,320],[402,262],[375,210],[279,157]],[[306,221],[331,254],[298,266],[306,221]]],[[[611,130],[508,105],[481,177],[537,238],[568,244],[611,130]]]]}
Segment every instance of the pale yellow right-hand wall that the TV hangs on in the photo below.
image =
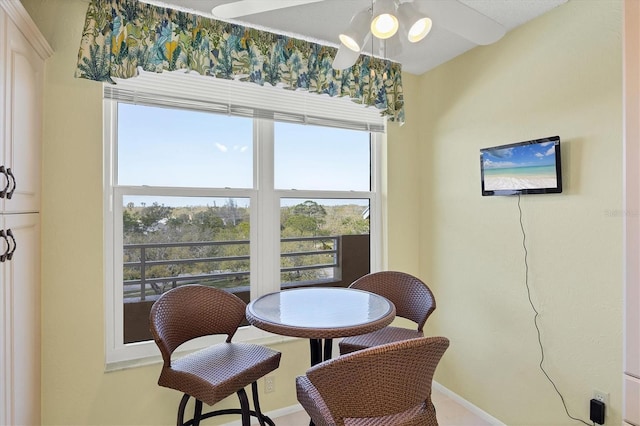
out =
{"type": "Polygon", "coordinates": [[[571,0],[420,79],[420,272],[451,339],[444,386],[509,425],[575,424],[538,363],[516,197],[482,197],[479,149],[559,135],[564,192],[523,196],[544,366],[589,422],[621,422],[622,12],[571,0]]]}

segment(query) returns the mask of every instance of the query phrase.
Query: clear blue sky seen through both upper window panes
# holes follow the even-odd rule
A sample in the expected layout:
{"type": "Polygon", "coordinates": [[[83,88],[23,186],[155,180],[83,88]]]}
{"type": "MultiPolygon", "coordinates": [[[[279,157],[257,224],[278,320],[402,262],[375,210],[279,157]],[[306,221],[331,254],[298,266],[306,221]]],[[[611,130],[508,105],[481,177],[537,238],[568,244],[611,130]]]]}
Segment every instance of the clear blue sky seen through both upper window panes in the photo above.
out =
{"type": "MultiPolygon", "coordinates": [[[[119,104],[118,183],[250,188],[250,118],[119,104]]],[[[277,189],[369,190],[369,134],[275,123],[277,189]]]]}

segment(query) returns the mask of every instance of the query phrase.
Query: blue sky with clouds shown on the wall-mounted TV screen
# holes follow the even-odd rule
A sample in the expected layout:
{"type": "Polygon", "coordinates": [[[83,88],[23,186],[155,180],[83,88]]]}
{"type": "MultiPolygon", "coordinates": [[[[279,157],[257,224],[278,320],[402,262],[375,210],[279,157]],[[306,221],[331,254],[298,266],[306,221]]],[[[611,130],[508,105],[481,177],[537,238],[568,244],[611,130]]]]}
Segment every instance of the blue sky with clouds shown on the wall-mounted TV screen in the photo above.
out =
{"type": "Polygon", "coordinates": [[[512,168],[531,166],[551,166],[556,161],[553,142],[526,144],[504,149],[483,149],[485,168],[512,168]]]}

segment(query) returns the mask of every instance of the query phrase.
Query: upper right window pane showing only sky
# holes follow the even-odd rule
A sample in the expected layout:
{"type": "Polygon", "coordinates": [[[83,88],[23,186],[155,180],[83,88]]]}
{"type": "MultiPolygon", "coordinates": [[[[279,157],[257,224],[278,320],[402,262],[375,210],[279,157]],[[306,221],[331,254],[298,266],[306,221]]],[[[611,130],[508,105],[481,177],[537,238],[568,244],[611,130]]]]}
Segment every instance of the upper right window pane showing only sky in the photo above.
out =
{"type": "Polygon", "coordinates": [[[369,191],[371,148],[367,132],[275,123],[275,187],[369,191]]]}

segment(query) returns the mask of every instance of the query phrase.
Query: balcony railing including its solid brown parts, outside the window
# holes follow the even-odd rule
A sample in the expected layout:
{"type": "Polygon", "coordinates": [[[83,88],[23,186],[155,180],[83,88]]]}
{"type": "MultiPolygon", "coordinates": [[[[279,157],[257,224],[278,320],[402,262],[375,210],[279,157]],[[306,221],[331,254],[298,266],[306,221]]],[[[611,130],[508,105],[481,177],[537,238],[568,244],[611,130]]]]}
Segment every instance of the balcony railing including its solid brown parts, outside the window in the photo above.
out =
{"type": "MultiPolygon", "coordinates": [[[[200,263],[203,262],[203,260],[209,260],[211,265],[217,265],[215,261],[221,258],[227,260],[229,260],[229,258],[241,258],[238,262],[248,262],[248,256],[244,255],[202,256],[202,258],[192,256],[189,259],[153,260],[158,255],[158,253],[154,253],[154,250],[193,246],[191,249],[193,251],[202,249],[203,252],[206,252],[206,249],[211,248],[207,247],[207,245],[215,247],[216,245],[229,245],[229,243],[231,242],[127,244],[125,250],[130,251],[130,253],[127,253],[128,258],[136,260],[127,262],[126,266],[133,268],[130,271],[136,270],[137,268],[140,275],[135,278],[132,277],[132,279],[124,283],[126,291],[123,312],[124,342],[133,343],[152,339],[151,333],[149,332],[149,311],[151,310],[151,306],[163,291],[167,291],[174,286],[196,282],[198,284],[206,284],[204,281],[207,280],[211,285],[225,287],[225,289],[233,292],[236,296],[244,300],[245,303],[248,303],[250,296],[248,266],[241,268],[242,270],[235,271],[216,270],[216,266],[213,266],[207,269],[207,273],[192,274],[190,276],[158,276],[157,278],[151,278],[149,274],[152,268],[158,265],[173,265],[176,267],[176,265],[184,266],[190,263],[200,263]],[[144,274],[142,273],[142,269],[145,271],[144,274]],[[142,279],[142,277],[145,278],[142,279]],[[238,277],[238,279],[235,279],[235,277],[238,277]],[[219,281],[216,282],[215,280],[219,281]],[[245,280],[246,284],[239,283],[239,280],[245,280]]],[[[283,239],[281,265],[293,264],[293,266],[284,266],[281,268],[281,288],[303,285],[348,286],[355,279],[360,278],[370,271],[369,243],[368,234],[283,239]],[[315,248],[295,250],[287,247],[289,245],[299,246],[300,244],[307,244],[309,247],[313,244],[315,248]],[[323,262],[307,261],[306,264],[303,262],[305,258],[311,259],[312,256],[317,257],[318,253],[327,255],[329,258],[323,262]],[[296,256],[301,256],[302,258],[299,259],[296,256]],[[325,276],[325,278],[309,281],[300,279],[300,277],[304,278],[313,274],[314,269],[318,272],[315,275],[325,276]],[[322,274],[323,272],[324,274],[322,274]]],[[[249,252],[249,241],[234,241],[233,244],[244,244],[244,250],[246,250],[246,253],[249,252]]],[[[238,246],[236,248],[241,247],[242,246],[238,246]]],[[[184,252],[186,251],[187,250],[184,250],[184,252]]],[[[317,258],[314,260],[317,260],[317,258]]],[[[157,270],[155,272],[157,272],[157,270]]]]}

